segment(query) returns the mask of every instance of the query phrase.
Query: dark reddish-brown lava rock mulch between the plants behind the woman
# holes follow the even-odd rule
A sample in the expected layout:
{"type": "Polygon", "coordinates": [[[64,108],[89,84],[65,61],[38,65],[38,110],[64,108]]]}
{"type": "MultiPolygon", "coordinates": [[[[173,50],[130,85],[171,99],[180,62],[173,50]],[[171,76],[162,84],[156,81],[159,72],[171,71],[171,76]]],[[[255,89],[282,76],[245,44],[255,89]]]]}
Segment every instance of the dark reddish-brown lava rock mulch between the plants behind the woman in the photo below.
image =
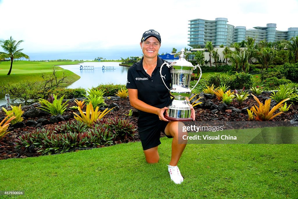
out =
{"type": "MultiPolygon", "coordinates": [[[[202,95],[202,94],[201,94],[202,95]]],[[[257,96],[261,102],[264,102],[266,99],[270,97],[270,93],[266,92],[260,96],[257,96]]],[[[204,101],[204,100],[203,100],[204,101]]],[[[227,107],[223,108],[222,110],[218,110],[219,108],[215,108],[217,106],[222,107],[222,103],[218,101],[216,98],[211,99],[212,103],[214,104],[207,109],[204,106],[196,106],[196,121],[248,121],[248,114],[246,109],[250,109],[253,105],[257,105],[257,102],[252,98],[250,95],[249,99],[244,101],[241,105],[238,104],[237,101],[233,101],[232,104],[228,105],[227,107]],[[234,108],[232,108],[234,107],[234,108]],[[239,110],[242,112],[240,112],[239,110]]],[[[112,97],[111,99],[106,99],[105,103],[107,104],[107,107],[114,107],[114,110],[109,112],[105,117],[120,117],[123,119],[129,120],[132,124],[134,124],[137,127],[137,117],[138,113],[137,110],[131,107],[129,103],[129,99],[120,99],[117,97],[112,97]],[[129,110],[133,110],[132,116],[127,116],[124,114],[128,114],[129,110]]],[[[209,101],[210,103],[210,101],[209,101]]],[[[271,101],[271,103],[273,103],[271,101]]],[[[74,99],[70,100],[68,103],[68,107],[75,106],[74,99]]],[[[274,104],[274,103],[273,103],[274,104]]],[[[30,106],[23,106],[22,109],[26,112],[27,110],[37,107],[38,104],[32,104],[30,106]]],[[[271,106],[272,107],[272,106],[271,106]]],[[[78,113],[78,112],[77,112],[78,113]]],[[[277,113],[277,112],[276,112],[277,113]]],[[[292,105],[288,112],[283,113],[282,115],[277,116],[273,119],[273,121],[290,121],[297,117],[298,114],[298,106],[292,105]]],[[[4,118],[5,113],[4,111],[0,111],[0,121],[4,118]]],[[[66,110],[66,112],[63,114],[66,120],[74,120],[73,117],[73,110],[66,110]]],[[[11,125],[9,128],[10,132],[5,138],[0,142],[0,160],[1,159],[8,159],[8,158],[26,158],[26,157],[36,157],[41,155],[40,153],[37,153],[34,148],[28,147],[26,150],[22,149],[15,149],[14,148],[14,142],[18,138],[18,136],[30,132],[36,128],[46,128],[46,129],[53,129],[55,125],[60,124],[64,121],[60,121],[54,124],[45,124],[44,123],[38,123],[36,125],[36,122],[40,118],[45,118],[47,121],[50,121],[50,114],[47,114],[46,112],[40,112],[38,116],[33,118],[24,118],[24,126],[23,127],[17,127],[11,125]],[[30,121],[30,122],[28,122],[30,121]],[[32,122],[33,121],[33,122],[32,122]],[[32,125],[32,127],[28,127],[27,125],[32,125]]],[[[39,120],[40,121],[40,120],[39,120]]],[[[134,139],[125,139],[122,141],[115,141],[114,144],[119,144],[121,142],[129,142],[129,141],[139,141],[138,133],[136,133],[134,139]]]]}

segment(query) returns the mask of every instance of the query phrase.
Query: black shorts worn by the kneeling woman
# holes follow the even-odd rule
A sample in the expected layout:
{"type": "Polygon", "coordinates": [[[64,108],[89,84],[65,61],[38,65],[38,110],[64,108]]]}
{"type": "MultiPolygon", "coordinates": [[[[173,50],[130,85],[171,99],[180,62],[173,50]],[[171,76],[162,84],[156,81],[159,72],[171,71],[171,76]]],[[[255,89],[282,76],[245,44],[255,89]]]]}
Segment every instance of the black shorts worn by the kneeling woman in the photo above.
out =
{"type": "MultiPolygon", "coordinates": [[[[158,115],[148,115],[138,120],[138,132],[139,138],[141,140],[143,150],[151,149],[155,146],[161,144],[159,138],[160,133],[164,133],[167,121],[159,120],[158,115]]],[[[168,138],[173,138],[172,136],[166,135],[168,138]]]]}

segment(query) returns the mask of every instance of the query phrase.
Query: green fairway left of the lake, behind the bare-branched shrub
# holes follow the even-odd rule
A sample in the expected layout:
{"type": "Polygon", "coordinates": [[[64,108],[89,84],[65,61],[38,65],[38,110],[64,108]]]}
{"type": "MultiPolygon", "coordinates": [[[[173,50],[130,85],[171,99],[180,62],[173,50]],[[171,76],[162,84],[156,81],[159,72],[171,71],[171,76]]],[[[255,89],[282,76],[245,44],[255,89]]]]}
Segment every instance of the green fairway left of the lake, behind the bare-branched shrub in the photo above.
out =
{"type": "MultiPolygon", "coordinates": [[[[24,80],[38,80],[41,81],[41,72],[51,73],[54,65],[67,65],[77,64],[80,62],[67,62],[67,61],[56,61],[56,62],[41,62],[41,61],[15,61],[13,62],[13,68],[10,75],[7,75],[10,68],[10,61],[1,62],[0,64],[0,85],[6,82],[17,82],[24,80]]],[[[56,67],[57,74],[62,75],[64,70],[61,67],[56,67]]],[[[79,75],[69,71],[66,71],[68,76],[67,81],[75,82],[80,79],[79,75]]]]}

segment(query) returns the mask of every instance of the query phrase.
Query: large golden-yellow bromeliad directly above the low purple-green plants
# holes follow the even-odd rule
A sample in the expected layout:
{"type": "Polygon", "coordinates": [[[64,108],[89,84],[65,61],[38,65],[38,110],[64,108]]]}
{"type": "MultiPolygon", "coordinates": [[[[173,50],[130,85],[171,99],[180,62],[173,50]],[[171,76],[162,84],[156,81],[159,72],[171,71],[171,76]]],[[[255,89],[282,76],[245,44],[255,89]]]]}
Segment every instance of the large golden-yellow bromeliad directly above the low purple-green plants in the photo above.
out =
{"type": "Polygon", "coordinates": [[[110,110],[108,110],[108,108],[106,108],[103,112],[101,112],[101,111],[98,111],[99,107],[96,107],[95,110],[94,110],[92,104],[89,103],[86,106],[86,112],[83,112],[82,109],[80,109],[80,107],[77,108],[79,110],[81,116],[78,115],[75,112],[73,114],[75,114],[74,117],[77,121],[83,122],[89,128],[91,128],[92,124],[95,121],[100,120],[101,118],[103,118],[103,116],[105,116],[108,112],[110,112],[114,108],[115,107],[111,108],[110,110]]]}

